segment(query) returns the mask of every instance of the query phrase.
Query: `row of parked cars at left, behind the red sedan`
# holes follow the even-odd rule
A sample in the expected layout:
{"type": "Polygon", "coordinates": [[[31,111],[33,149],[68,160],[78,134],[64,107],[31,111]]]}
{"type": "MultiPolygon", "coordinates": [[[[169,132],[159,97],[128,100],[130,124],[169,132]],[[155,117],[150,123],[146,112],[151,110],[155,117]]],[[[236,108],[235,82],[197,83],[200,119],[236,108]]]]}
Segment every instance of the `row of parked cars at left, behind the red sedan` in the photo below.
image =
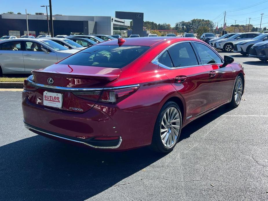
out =
{"type": "Polygon", "coordinates": [[[108,35],[3,36],[0,41],[0,75],[29,74],[45,68],[85,47],[114,40],[108,35]]]}

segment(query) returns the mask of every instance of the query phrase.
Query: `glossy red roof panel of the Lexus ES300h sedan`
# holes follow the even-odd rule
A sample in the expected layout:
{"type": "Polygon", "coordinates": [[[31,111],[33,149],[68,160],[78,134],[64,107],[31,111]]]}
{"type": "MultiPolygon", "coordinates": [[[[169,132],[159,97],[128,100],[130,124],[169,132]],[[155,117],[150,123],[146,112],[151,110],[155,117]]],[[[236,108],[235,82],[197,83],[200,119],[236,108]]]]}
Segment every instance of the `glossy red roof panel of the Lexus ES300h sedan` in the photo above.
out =
{"type": "MultiPolygon", "coordinates": [[[[153,37],[137,37],[137,38],[126,38],[123,45],[140,45],[140,46],[152,46],[155,43],[165,43],[167,41],[180,42],[180,41],[200,41],[193,38],[185,37],[168,37],[168,36],[153,36],[153,37]]],[[[105,41],[97,43],[96,45],[117,45],[118,40],[105,41]]]]}

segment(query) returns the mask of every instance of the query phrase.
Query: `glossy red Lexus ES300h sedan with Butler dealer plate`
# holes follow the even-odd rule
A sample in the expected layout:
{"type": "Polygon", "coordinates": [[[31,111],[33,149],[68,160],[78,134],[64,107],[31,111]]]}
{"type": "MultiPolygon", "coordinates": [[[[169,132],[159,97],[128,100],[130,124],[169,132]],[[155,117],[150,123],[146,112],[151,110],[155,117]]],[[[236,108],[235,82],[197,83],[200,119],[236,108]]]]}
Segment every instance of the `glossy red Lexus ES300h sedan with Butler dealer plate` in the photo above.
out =
{"type": "Polygon", "coordinates": [[[190,38],[98,43],[24,81],[25,127],[95,149],[172,151],[181,129],[244,90],[239,63],[190,38]]]}

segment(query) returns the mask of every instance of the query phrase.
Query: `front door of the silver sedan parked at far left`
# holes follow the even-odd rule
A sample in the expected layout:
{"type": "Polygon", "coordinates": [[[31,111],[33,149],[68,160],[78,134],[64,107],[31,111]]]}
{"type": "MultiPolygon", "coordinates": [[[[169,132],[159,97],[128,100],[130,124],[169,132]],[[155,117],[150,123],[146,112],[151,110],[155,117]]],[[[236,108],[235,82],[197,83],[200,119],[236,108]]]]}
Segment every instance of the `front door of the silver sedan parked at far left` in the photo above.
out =
{"type": "Polygon", "coordinates": [[[48,67],[56,63],[57,55],[51,51],[45,53],[41,49],[41,44],[34,41],[25,41],[25,50],[23,51],[23,60],[25,65],[25,72],[31,72],[31,70],[48,67]]]}

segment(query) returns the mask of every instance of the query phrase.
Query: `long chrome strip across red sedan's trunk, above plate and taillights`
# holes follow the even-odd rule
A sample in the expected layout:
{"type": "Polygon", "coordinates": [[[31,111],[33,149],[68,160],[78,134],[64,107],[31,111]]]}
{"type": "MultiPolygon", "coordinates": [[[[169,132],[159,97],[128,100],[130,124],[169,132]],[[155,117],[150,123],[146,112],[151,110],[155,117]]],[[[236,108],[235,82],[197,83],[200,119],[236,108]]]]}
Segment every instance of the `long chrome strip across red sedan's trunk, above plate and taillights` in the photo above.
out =
{"type": "Polygon", "coordinates": [[[98,90],[113,90],[113,89],[124,89],[128,87],[139,87],[139,84],[136,85],[126,85],[126,86],[120,86],[120,87],[107,87],[107,88],[71,88],[71,87],[58,87],[58,86],[52,86],[52,85],[43,85],[43,84],[38,84],[30,80],[29,78],[27,81],[37,87],[40,88],[45,88],[45,89],[56,89],[56,90],[61,90],[61,91],[73,91],[73,92],[85,92],[85,91],[98,91],[98,90]]]}

